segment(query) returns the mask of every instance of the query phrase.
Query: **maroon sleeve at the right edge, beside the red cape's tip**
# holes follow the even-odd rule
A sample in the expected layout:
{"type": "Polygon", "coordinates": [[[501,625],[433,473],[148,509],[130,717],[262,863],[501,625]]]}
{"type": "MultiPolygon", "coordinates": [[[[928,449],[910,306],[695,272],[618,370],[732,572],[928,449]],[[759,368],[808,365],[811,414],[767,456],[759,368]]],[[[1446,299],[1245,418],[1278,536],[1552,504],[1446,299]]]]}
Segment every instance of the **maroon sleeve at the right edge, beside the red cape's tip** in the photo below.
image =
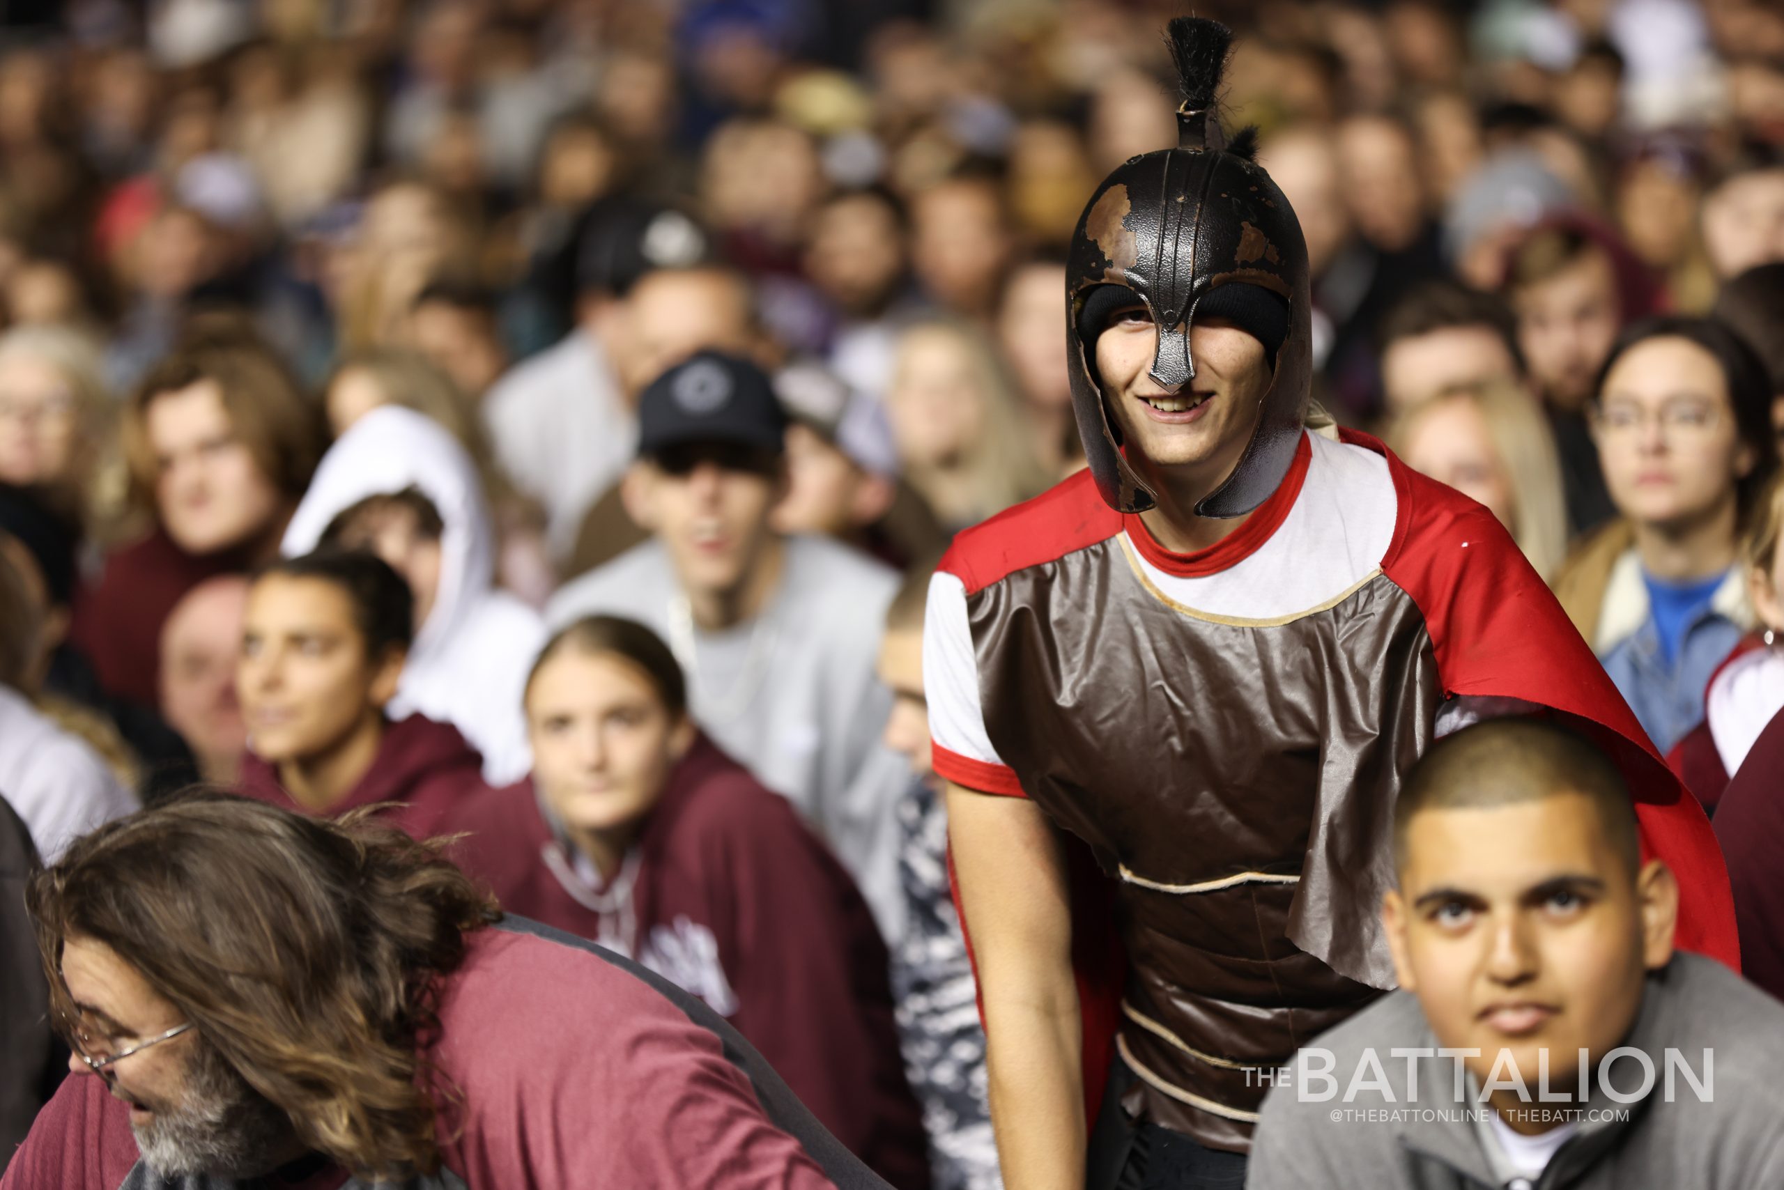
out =
{"type": "Polygon", "coordinates": [[[1734,887],[1741,974],[1784,999],[1784,712],[1729,778],[1711,826],[1734,887]]]}

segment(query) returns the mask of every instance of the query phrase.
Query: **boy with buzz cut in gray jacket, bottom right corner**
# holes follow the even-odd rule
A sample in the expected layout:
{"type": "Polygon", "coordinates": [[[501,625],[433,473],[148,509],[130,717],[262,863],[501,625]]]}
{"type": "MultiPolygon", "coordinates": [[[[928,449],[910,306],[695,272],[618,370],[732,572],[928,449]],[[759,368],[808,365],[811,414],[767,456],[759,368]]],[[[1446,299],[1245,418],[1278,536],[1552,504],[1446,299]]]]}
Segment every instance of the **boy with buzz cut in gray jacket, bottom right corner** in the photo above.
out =
{"type": "Polygon", "coordinates": [[[1679,885],[1595,744],[1465,728],[1393,837],[1400,990],[1258,1072],[1247,1186],[1784,1185],[1784,1006],[1673,949],[1679,885]]]}

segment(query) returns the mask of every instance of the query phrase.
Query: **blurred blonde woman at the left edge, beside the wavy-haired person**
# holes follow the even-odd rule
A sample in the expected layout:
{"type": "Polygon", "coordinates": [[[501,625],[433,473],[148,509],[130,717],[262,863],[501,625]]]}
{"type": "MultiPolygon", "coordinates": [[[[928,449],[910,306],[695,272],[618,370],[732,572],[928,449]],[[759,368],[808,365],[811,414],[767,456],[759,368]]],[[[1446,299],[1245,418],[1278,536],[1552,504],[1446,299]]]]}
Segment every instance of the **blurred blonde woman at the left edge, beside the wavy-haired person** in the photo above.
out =
{"type": "Polygon", "coordinates": [[[43,492],[98,533],[123,507],[98,344],[68,326],[0,335],[0,482],[43,492]],[[112,466],[107,466],[112,464],[112,466]]]}

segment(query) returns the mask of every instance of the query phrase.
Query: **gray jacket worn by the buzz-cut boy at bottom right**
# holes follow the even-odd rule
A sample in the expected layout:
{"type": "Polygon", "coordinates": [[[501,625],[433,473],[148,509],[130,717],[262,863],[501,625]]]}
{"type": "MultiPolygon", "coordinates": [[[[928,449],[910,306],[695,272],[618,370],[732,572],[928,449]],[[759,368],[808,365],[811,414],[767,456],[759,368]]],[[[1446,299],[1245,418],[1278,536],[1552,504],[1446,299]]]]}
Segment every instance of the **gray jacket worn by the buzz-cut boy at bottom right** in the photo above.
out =
{"type": "MultiPolygon", "coordinates": [[[[1784,1186],[1784,1095],[1777,1088],[1777,1072],[1784,1069],[1784,1004],[1720,963],[1681,953],[1648,974],[1641,1012],[1623,1044],[1654,1063],[1648,1095],[1616,1103],[1606,1097],[1595,1070],[1586,1103],[1532,1103],[1586,1115],[1534,1185],[1502,1181],[1493,1176],[1483,1142],[1486,1128],[1479,1113],[1486,1104],[1474,1103],[1466,1087],[1456,1095],[1456,1060],[1434,1054],[1438,1042],[1418,1001],[1409,992],[1393,992],[1315,1042],[1315,1049],[1333,1056],[1336,1094],[1317,1099],[1333,1085],[1301,1079],[1308,1051],[1290,1069],[1301,1088],[1284,1083],[1270,1092],[1245,1185],[1251,1190],[1784,1186]],[[1395,1047],[1433,1054],[1397,1058],[1390,1054],[1395,1047]],[[1666,1101],[1668,1049],[1706,1083],[1707,1101],[1682,1072],[1673,1079],[1672,1103],[1666,1101]],[[1713,1051],[1707,1063],[1706,1049],[1713,1051]],[[1367,1051],[1377,1056],[1379,1070],[1368,1065],[1367,1051]],[[1416,1069],[1416,1101],[1408,1097],[1409,1067],[1416,1069]],[[1375,1087],[1347,1097],[1359,1069],[1361,1081],[1375,1087]]],[[[1536,1078],[1524,1074],[1534,1099],[1536,1078]]],[[[1636,1060],[1620,1060],[1613,1078],[1618,1088],[1634,1090],[1636,1060]]]]}

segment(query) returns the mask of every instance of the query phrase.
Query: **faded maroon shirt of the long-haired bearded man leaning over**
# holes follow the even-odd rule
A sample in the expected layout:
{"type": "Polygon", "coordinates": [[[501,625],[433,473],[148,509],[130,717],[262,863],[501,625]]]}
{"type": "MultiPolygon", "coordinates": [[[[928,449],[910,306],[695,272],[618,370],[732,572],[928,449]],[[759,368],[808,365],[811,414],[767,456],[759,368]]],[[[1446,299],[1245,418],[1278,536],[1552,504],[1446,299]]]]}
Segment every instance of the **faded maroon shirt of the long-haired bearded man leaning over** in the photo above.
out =
{"type": "MultiPolygon", "coordinates": [[[[437,1010],[430,1058],[462,1099],[441,1119],[444,1169],[417,1190],[885,1190],[705,1004],[598,947],[480,930],[437,1010]]],[[[203,1185],[369,1190],[316,1163],[203,1185]]],[[[0,1190],[173,1185],[139,1165],[128,1104],[73,1076],[0,1190]]]]}

